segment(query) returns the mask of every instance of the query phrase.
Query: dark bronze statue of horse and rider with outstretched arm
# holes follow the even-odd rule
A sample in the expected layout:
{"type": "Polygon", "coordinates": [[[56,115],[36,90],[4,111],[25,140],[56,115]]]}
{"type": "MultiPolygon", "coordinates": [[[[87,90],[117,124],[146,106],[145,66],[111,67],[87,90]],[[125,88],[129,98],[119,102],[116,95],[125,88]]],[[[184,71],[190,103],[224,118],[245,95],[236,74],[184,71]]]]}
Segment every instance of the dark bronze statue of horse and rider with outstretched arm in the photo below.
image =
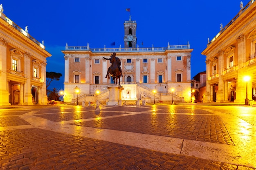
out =
{"type": "Polygon", "coordinates": [[[111,66],[108,68],[108,73],[106,75],[106,77],[108,77],[108,79],[110,79],[109,75],[113,78],[114,84],[117,84],[117,79],[119,79],[119,86],[120,86],[120,77],[122,75],[121,71],[120,71],[120,65],[121,62],[119,60],[118,57],[115,56],[115,53],[113,53],[113,55],[110,56],[110,58],[105,58],[106,60],[110,60],[111,62],[111,66]]]}

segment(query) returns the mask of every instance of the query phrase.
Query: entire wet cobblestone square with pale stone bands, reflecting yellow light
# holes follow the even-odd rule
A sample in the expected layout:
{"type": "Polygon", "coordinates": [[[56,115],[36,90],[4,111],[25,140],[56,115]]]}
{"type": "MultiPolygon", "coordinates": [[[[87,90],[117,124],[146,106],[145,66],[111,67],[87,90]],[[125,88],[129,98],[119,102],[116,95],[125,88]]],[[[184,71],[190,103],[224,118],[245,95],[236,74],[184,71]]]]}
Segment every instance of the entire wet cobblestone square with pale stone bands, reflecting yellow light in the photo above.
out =
{"type": "Polygon", "coordinates": [[[1,108],[0,169],[256,169],[256,107],[100,108],[1,108]]]}

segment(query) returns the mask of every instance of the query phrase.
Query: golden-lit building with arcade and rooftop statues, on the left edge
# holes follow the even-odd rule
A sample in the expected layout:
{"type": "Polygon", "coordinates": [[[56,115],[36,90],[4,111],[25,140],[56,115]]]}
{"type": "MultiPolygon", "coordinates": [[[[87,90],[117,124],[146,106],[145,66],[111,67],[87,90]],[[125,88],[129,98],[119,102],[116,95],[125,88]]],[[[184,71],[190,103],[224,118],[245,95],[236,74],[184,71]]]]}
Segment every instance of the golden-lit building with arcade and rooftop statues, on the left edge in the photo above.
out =
{"type": "Polygon", "coordinates": [[[47,104],[45,46],[0,13],[0,106],[47,104]]]}

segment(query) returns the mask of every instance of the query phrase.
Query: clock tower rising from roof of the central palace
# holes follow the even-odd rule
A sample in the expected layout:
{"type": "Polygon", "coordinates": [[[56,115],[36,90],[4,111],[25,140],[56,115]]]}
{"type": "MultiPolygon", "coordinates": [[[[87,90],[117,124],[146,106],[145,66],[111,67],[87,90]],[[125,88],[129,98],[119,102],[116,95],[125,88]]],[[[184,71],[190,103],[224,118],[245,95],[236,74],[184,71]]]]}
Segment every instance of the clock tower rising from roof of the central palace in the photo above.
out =
{"type": "Polygon", "coordinates": [[[136,48],[136,21],[132,21],[131,15],[129,21],[124,21],[124,48],[136,48]]]}

